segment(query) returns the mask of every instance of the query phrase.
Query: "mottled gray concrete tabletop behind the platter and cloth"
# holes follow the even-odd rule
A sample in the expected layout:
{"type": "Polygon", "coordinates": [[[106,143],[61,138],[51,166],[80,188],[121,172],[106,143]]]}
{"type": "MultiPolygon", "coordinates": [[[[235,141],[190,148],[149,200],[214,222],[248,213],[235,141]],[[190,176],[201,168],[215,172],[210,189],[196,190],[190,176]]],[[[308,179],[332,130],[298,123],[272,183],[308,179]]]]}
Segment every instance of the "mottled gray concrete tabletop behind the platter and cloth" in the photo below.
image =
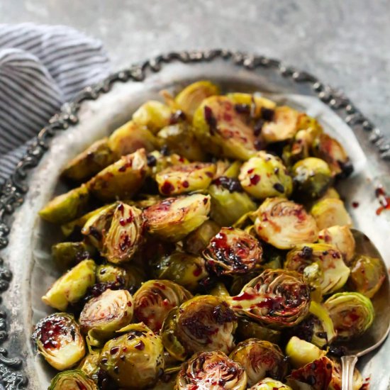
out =
{"type": "Polygon", "coordinates": [[[345,91],[390,135],[388,0],[0,0],[0,23],[25,21],[100,38],[113,69],[180,49],[277,57],[345,91]]]}

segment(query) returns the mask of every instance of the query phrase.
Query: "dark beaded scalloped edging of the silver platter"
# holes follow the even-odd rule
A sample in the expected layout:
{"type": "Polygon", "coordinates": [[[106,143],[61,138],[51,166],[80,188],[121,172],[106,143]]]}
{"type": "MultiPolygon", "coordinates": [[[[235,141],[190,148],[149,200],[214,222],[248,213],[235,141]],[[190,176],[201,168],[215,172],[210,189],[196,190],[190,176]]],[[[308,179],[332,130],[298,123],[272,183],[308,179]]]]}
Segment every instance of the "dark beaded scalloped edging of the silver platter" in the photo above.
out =
{"type": "MultiPolygon", "coordinates": [[[[230,50],[194,50],[183,52],[169,52],[159,55],[152,60],[145,60],[140,64],[132,65],[128,69],[111,74],[102,82],[85,88],[77,97],[62,106],[60,113],[50,119],[32,145],[28,147],[25,155],[18,162],[15,171],[6,180],[0,194],[0,250],[9,243],[8,235],[11,230],[11,215],[23,203],[24,195],[28,191],[28,172],[36,167],[41,157],[49,148],[49,141],[57,131],[66,130],[78,122],[78,111],[83,101],[96,100],[101,94],[106,94],[116,82],[142,82],[148,72],[159,72],[164,64],[169,62],[207,62],[216,58],[232,61],[235,65],[254,70],[258,67],[273,68],[282,77],[289,77],[294,82],[308,83],[317,94],[318,99],[333,108],[344,111],[345,121],[352,128],[362,126],[369,132],[369,140],[377,146],[379,155],[384,160],[390,160],[390,143],[373,123],[369,121],[340,91],[323,84],[308,72],[300,71],[294,67],[283,65],[279,60],[267,58],[262,55],[250,55],[230,50]]],[[[0,258],[0,294],[9,288],[12,274],[0,258]]],[[[0,311],[0,345],[8,337],[6,326],[6,312],[0,311]]],[[[23,374],[23,361],[20,357],[7,357],[8,351],[0,347],[0,384],[8,390],[26,389],[28,378],[23,374]]]]}

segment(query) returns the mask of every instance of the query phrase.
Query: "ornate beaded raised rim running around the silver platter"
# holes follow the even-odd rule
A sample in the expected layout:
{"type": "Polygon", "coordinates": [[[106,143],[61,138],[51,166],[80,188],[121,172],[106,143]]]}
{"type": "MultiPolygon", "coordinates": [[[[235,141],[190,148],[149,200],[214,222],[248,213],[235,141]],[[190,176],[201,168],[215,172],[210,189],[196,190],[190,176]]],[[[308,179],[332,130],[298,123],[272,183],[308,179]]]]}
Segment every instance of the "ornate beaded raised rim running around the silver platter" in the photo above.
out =
{"type": "MultiPolygon", "coordinates": [[[[23,325],[21,314],[13,310],[15,291],[21,282],[12,279],[12,272],[7,264],[6,247],[9,246],[13,213],[23,204],[28,194],[28,174],[36,167],[45,152],[49,149],[50,140],[57,134],[79,122],[79,112],[84,101],[95,101],[111,91],[114,84],[124,82],[142,83],[152,74],[159,73],[169,64],[206,64],[212,62],[228,62],[238,69],[256,74],[257,71],[266,70],[279,79],[286,79],[291,83],[304,85],[324,104],[335,111],[347,123],[360,143],[364,143],[364,152],[371,156],[377,184],[386,186],[381,182],[389,172],[390,143],[384,138],[380,130],[375,128],[367,118],[355,107],[346,96],[339,91],[320,82],[307,72],[301,72],[293,67],[286,67],[279,60],[263,56],[248,55],[242,52],[228,50],[206,50],[192,52],[171,52],[133,65],[121,72],[112,74],[103,82],[84,89],[74,101],[65,104],[62,111],[55,115],[48,126],[40,131],[33,143],[28,147],[26,154],[18,163],[15,172],[4,184],[0,194],[0,292],[4,294],[0,311],[0,390],[31,388],[26,374],[26,360],[29,352],[24,345],[14,342],[18,338],[18,329],[23,325]],[[3,258],[4,257],[4,260],[3,258]],[[6,341],[9,339],[8,341],[6,341]],[[7,343],[6,347],[3,344],[7,343]]],[[[22,281],[23,282],[23,281],[22,281]]],[[[388,380],[388,379],[387,379],[388,380]]]]}

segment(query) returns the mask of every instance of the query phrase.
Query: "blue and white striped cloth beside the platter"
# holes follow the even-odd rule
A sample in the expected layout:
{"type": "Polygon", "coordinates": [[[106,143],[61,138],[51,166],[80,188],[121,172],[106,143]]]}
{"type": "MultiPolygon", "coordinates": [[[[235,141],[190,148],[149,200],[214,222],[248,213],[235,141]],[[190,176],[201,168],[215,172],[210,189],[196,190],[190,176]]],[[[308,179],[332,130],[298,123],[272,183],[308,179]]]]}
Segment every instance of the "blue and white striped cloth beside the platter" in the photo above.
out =
{"type": "Polygon", "coordinates": [[[101,42],[73,28],[0,24],[0,189],[28,140],[109,72],[101,42]]]}

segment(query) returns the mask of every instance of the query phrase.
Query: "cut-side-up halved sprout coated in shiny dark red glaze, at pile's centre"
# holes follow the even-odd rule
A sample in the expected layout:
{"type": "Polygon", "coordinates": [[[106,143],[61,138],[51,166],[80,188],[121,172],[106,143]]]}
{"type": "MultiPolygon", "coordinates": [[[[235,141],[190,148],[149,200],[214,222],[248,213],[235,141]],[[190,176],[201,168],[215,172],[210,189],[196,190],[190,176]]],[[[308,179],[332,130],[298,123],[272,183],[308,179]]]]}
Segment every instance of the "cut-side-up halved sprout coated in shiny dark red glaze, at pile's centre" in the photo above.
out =
{"type": "Polygon", "coordinates": [[[221,228],[203,252],[206,267],[218,276],[246,274],[262,262],[262,247],[244,230],[221,228]]]}

